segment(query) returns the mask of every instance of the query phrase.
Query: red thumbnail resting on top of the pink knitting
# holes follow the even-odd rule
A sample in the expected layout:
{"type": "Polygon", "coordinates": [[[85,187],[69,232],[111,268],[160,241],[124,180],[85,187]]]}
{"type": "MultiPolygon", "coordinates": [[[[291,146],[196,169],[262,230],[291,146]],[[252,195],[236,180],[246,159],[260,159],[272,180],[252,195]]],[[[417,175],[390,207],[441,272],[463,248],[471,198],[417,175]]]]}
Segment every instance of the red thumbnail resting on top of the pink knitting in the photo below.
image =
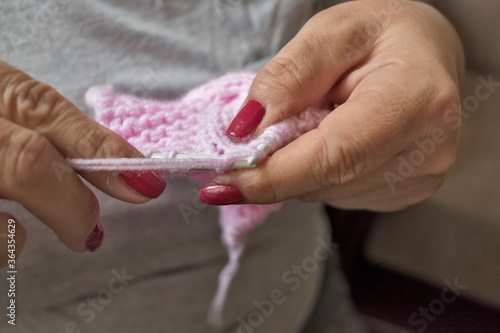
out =
{"type": "Polygon", "coordinates": [[[266,109],[257,101],[248,101],[247,104],[234,117],[227,128],[226,135],[235,140],[249,138],[257,129],[266,109]]]}

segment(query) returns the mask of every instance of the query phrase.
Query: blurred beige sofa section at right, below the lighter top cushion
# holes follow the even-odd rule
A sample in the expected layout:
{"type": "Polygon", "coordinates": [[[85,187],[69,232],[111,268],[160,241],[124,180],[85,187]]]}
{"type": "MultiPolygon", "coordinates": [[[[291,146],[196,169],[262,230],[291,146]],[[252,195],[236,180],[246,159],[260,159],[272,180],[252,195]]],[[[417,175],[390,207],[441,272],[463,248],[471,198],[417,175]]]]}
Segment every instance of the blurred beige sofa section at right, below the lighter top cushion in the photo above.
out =
{"type": "MultiPolygon", "coordinates": [[[[500,87],[485,100],[475,97],[478,77],[488,75],[468,72],[458,161],[443,187],[378,219],[366,255],[438,288],[457,278],[469,297],[500,306],[500,87]],[[479,108],[469,112],[474,102],[479,108]]],[[[492,79],[500,83],[500,75],[492,79]]]]}

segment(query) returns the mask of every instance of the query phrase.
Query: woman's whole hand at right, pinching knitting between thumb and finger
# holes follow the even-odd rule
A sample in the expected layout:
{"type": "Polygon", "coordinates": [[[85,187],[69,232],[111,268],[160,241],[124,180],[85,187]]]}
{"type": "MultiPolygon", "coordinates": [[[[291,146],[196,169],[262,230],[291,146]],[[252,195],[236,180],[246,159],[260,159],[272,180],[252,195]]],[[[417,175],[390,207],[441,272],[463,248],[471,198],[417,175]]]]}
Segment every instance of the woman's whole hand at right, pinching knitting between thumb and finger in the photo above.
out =
{"type": "Polygon", "coordinates": [[[215,177],[201,200],[393,211],[429,197],[455,161],[463,67],[453,27],[428,5],[360,0],[317,14],[258,73],[246,100],[258,103],[227,134],[258,135],[323,96],[338,107],[259,167],[215,177]]]}

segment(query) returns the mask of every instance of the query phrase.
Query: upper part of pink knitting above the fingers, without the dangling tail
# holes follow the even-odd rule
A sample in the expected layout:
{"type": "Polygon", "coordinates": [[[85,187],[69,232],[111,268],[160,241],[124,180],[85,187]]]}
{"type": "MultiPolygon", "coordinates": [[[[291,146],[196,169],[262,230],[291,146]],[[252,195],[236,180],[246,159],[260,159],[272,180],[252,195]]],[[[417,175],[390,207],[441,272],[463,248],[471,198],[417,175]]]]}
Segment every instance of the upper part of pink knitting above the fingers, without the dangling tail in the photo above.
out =
{"type": "Polygon", "coordinates": [[[228,74],[179,100],[167,102],[120,94],[111,86],[91,88],[86,100],[95,110],[97,121],[127,139],[144,155],[162,153],[164,158],[77,159],[71,163],[80,170],[154,169],[186,174],[193,168],[207,168],[220,173],[237,160],[262,161],[269,152],[315,128],[325,116],[325,111],[318,112],[316,106],[267,128],[245,144],[231,141],[224,135],[225,130],[238,112],[254,76],[253,73],[228,74]],[[200,156],[183,160],[176,158],[178,153],[223,158],[200,156]]]}

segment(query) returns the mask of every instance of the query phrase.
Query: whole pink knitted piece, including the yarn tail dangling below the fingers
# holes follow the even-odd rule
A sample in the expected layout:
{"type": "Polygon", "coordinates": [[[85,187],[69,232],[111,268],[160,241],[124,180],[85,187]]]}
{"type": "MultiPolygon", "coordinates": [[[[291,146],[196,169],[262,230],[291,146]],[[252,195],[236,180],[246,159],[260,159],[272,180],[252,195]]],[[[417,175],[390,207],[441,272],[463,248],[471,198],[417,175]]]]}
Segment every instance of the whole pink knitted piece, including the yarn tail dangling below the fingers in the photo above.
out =
{"type": "MultiPolygon", "coordinates": [[[[145,156],[163,153],[165,158],[71,160],[81,170],[145,170],[154,168],[163,176],[183,176],[206,183],[216,173],[226,171],[236,160],[252,158],[256,163],[268,153],[285,146],[314,129],[329,113],[326,102],[270,126],[257,138],[235,143],[225,130],[248,95],[254,73],[227,74],[187,93],[180,99],[161,101],[117,92],[111,86],[96,86],[86,94],[87,104],[98,122],[115,131],[145,156]],[[265,147],[263,149],[262,147],[265,147]],[[219,156],[176,159],[176,154],[219,156]],[[106,167],[103,168],[103,162],[106,167]],[[215,171],[190,171],[192,168],[215,171]]],[[[212,306],[212,321],[220,322],[231,279],[238,269],[245,236],[267,216],[281,208],[273,205],[231,205],[220,207],[222,238],[229,250],[229,264],[219,278],[219,290],[212,306]]]]}

